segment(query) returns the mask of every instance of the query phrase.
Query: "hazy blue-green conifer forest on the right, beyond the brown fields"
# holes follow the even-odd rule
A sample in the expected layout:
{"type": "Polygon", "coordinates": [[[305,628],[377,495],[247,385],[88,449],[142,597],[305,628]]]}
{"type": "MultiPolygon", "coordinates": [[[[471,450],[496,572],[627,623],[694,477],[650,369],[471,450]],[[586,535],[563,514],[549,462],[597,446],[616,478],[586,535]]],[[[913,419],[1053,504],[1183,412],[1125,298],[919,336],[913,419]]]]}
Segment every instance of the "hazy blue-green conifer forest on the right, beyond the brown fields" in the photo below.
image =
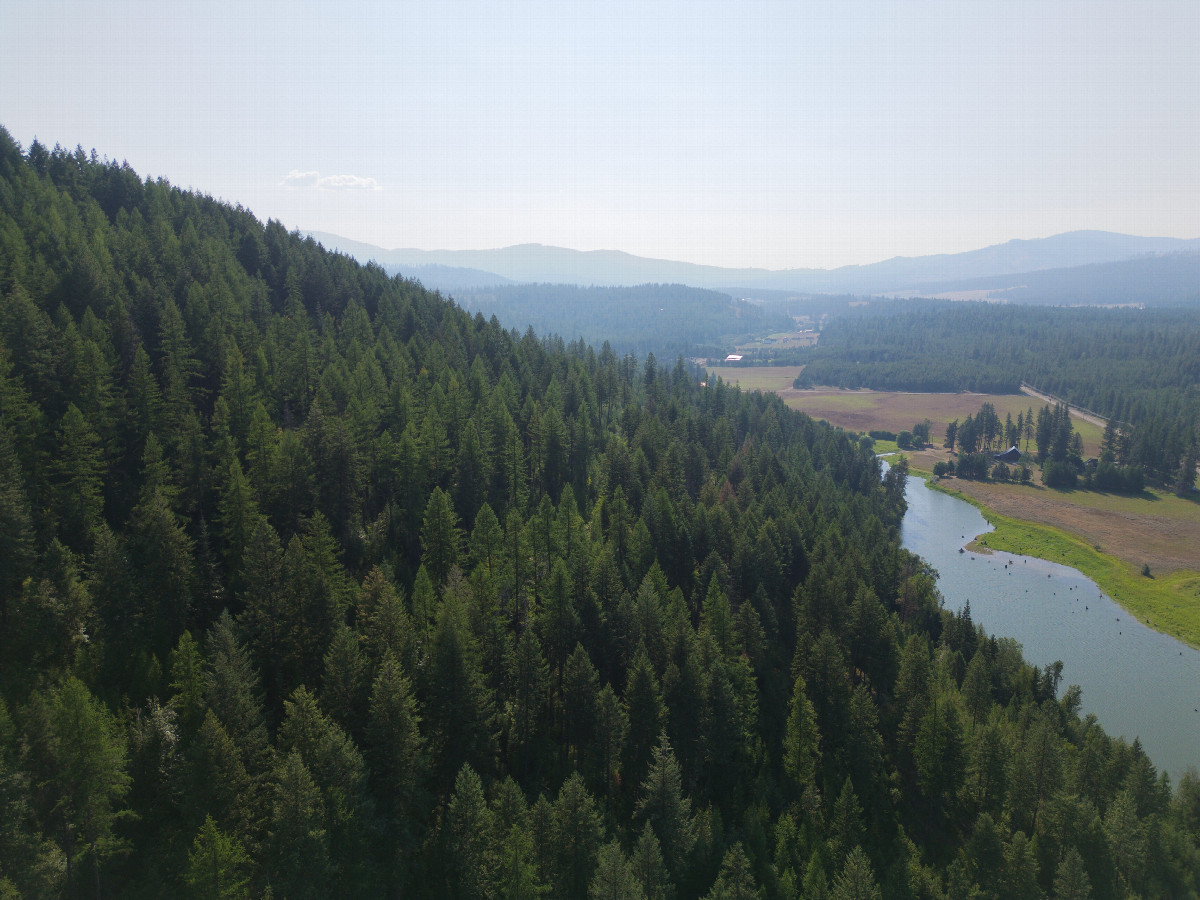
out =
{"type": "Polygon", "coordinates": [[[834,319],[800,359],[797,388],[1016,394],[1026,382],[1122,424],[1122,462],[1157,481],[1196,464],[1198,310],[925,301],[834,319]]]}

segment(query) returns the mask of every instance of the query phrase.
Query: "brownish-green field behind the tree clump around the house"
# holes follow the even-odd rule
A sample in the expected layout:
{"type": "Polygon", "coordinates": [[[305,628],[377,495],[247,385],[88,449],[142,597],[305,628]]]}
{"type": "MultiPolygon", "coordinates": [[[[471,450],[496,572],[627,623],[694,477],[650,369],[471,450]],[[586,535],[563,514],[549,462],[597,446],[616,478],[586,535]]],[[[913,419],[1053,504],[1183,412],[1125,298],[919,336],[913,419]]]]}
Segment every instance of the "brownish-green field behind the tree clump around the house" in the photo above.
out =
{"type": "MultiPolygon", "coordinates": [[[[754,371],[754,370],[736,370],[754,371]]],[[[798,371],[798,367],[797,370],[798,371]]],[[[794,377],[794,376],[793,376],[794,377]]],[[[762,388],[768,390],[767,386],[762,388]]],[[[941,444],[948,422],[962,421],[976,415],[979,407],[991,403],[1001,419],[1016,416],[1045,406],[1024,394],[905,394],[901,391],[848,391],[833,388],[796,390],[774,388],[787,406],[800,409],[814,419],[824,419],[848,431],[911,431],[917,422],[929,419],[932,424],[934,443],[941,444]]],[[[1072,420],[1075,431],[1084,438],[1084,452],[1098,456],[1103,428],[1080,419],[1072,420]]]]}

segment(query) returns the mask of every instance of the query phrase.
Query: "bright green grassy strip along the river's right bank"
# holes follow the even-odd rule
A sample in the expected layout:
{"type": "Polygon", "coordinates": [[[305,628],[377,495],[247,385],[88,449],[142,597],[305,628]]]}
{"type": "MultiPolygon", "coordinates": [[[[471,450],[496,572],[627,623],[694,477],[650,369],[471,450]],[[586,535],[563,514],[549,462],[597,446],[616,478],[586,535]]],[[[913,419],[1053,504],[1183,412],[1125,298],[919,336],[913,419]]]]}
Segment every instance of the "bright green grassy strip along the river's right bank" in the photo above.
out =
{"type": "Polygon", "coordinates": [[[944,479],[935,478],[932,472],[911,466],[911,462],[908,472],[924,478],[932,490],[970,503],[995,528],[972,540],[968,550],[1036,557],[1078,569],[1139,622],[1200,649],[1200,604],[1195,602],[1200,594],[1200,572],[1178,569],[1147,577],[1133,563],[1090,545],[1079,535],[997,512],[965,491],[955,490],[944,479]]]}

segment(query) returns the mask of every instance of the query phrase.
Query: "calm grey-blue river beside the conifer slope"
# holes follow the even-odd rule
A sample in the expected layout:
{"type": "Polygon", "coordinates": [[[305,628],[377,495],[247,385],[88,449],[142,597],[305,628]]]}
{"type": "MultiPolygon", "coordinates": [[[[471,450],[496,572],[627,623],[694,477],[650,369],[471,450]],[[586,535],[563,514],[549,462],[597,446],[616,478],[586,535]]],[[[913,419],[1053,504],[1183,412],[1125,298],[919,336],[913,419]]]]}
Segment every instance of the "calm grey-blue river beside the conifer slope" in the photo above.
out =
{"type": "Polygon", "coordinates": [[[968,503],[908,476],[905,548],[938,572],[946,607],[971,602],[989,634],[1014,637],[1030,662],[1062,660],[1062,684],[1082,688],[1082,712],[1140,738],[1172,781],[1200,768],[1200,652],[1139,623],[1078,570],[1012,553],[960,553],[992,530],[968,503]]]}

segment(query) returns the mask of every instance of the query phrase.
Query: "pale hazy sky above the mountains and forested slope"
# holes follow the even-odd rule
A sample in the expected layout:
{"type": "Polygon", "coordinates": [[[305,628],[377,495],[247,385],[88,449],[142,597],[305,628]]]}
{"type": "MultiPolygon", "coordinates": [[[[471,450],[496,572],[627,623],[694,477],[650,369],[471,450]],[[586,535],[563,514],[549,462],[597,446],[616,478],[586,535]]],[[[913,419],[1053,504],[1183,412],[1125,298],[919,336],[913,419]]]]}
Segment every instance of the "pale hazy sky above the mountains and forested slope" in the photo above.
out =
{"type": "Polygon", "coordinates": [[[1200,236],[1196,0],[2,0],[0,125],[288,228],[833,268],[1200,236]]]}

